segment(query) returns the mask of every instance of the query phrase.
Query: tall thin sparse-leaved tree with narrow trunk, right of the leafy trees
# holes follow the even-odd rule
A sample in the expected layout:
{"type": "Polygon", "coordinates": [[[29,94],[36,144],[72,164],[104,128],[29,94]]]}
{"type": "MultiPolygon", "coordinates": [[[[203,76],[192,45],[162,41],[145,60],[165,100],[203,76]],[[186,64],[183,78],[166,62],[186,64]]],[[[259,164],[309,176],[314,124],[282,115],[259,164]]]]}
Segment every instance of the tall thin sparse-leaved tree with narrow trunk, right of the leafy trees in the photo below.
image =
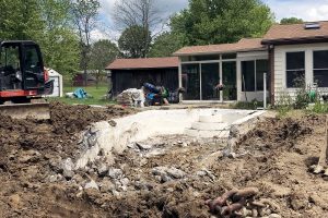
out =
{"type": "Polygon", "coordinates": [[[84,85],[87,85],[87,66],[90,62],[91,32],[95,28],[101,4],[98,0],[74,0],[72,14],[80,39],[81,66],[84,71],[84,85]]]}

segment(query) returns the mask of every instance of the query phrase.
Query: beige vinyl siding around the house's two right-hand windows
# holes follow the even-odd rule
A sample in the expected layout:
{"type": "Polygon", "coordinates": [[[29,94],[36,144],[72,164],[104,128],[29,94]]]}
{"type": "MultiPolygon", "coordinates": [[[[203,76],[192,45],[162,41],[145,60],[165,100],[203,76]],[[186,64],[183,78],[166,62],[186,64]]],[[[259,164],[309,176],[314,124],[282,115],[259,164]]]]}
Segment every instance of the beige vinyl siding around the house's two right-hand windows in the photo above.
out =
{"type": "Polygon", "coordinates": [[[313,51],[328,50],[328,43],[324,44],[302,44],[274,47],[274,96],[279,102],[283,94],[289,94],[292,98],[296,94],[296,88],[286,88],[286,66],[285,53],[305,51],[305,80],[306,85],[313,85],[313,51]]]}

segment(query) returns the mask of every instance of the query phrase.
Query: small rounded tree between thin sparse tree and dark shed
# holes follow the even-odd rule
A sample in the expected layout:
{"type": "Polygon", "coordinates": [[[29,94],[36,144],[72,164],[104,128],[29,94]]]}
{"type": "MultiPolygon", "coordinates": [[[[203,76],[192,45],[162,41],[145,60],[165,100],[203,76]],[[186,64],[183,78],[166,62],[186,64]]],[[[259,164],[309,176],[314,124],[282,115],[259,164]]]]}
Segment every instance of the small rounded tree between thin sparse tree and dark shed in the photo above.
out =
{"type": "Polygon", "coordinates": [[[96,77],[96,87],[104,75],[105,68],[119,55],[118,48],[110,40],[103,39],[94,43],[91,48],[91,63],[96,77]]]}

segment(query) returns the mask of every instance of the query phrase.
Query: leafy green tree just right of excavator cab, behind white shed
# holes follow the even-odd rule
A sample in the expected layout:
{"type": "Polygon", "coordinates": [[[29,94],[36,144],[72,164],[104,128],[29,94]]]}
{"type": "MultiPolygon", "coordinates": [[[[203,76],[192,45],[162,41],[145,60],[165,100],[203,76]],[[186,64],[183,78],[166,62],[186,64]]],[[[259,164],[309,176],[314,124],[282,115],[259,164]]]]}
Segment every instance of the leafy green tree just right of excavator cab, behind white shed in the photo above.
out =
{"type": "Polygon", "coordinates": [[[70,7],[70,0],[40,0],[46,31],[38,41],[46,65],[72,78],[79,69],[80,49],[70,7]]]}

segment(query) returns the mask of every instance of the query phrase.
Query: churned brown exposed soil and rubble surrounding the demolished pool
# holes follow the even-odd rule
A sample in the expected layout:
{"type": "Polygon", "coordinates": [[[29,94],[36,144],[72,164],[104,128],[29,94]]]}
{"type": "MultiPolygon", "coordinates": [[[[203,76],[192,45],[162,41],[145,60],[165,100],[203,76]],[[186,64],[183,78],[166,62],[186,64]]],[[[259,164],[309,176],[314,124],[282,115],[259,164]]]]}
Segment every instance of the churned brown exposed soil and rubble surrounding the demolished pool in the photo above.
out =
{"type": "Polygon", "coordinates": [[[325,143],[320,116],[265,119],[238,142],[236,158],[221,156],[221,142],[169,136],[148,141],[150,149],[133,147],[115,155],[110,168],[121,169],[120,178],[99,175],[93,165],[74,171],[72,179],[49,181],[57,173],[51,162],[74,159],[78,136],[91,122],[131,112],[55,104],[50,121],[0,118],[0,216],[210,217],[206,199],[256,186],[257,197],[278,204],[274,213],[282,217],[327,217],[328,181],[308,171],[325,143]],[[155,167],[178,169],[184,175],[163,181],[155,167]],[[101,187],[109,181],[114,187],[82,189],[90,179],[101,187]]]}

